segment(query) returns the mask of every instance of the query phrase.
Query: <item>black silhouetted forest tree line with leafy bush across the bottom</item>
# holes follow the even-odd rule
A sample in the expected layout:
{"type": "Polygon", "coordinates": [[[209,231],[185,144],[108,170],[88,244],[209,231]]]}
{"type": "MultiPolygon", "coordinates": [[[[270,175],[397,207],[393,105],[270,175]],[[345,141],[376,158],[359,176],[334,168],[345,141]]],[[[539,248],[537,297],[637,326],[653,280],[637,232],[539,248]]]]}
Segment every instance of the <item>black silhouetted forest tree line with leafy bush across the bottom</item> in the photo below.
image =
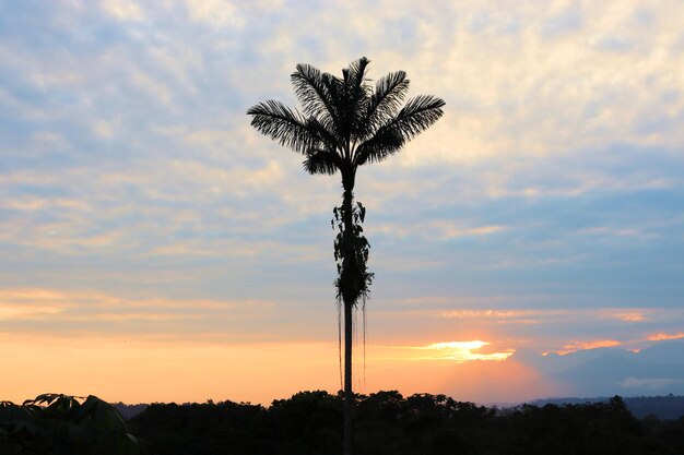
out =
{"type": "MultiPolygon", "coordinates": [[[[357,455],[681,455],[684,417],[637,419],[601,403],[477,406],[396,391],[354,397],[357,455]]],[[[249,403],[137,405],[130,419],[102,399],[44,394],[0,402],[0,454],[339,455],[343,395],[300,392],[249,403]]]]}

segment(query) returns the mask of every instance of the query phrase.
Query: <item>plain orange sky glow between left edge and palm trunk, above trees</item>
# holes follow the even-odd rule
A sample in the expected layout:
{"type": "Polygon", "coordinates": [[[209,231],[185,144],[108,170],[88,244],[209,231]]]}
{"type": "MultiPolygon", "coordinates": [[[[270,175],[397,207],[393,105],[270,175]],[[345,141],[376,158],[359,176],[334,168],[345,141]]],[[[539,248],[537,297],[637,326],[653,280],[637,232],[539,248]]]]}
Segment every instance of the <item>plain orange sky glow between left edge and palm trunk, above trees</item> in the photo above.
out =
{"type": "Polygon", "coordinates": [[[302,390],[338,388],[337,346],[181,344],[125,339],[9,339],[3,396],[97,395],[108,402],[231,399],[269,404],[302,390]]]}

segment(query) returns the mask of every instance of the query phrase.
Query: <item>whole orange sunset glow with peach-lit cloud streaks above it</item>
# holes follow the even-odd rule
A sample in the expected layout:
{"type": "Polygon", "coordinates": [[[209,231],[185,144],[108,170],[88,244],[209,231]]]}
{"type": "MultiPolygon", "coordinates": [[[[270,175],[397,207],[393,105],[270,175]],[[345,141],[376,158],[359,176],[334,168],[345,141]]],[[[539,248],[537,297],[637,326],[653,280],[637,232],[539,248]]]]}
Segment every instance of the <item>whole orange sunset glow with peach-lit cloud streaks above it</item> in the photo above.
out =
{"type": "MultiPolygon", "coordinates": [[[[282,335],[270,332],[272,327],[257,332],[255,326],[245,328],[234,322],[279,311],[276,304],[267,300],[135,299],[91,291],[0,290],[0,321],[11,328],[0,334],[0,399],[21,403],[51,392],[93,394],[125,403],[203,403],[211,398],[269,405],[299,391],[335,393],[341,384],[334,332],[323,340],[282,342],[282,335]],[[217,320],[225,325],[216,324],[217,320]],[[119,324],[129,321],[140,328],[126,331],[130,326],[119,324]],[[204,330],[202,324],[208,321],[214,323],[213,330],[204,330]]],[[[504,335],[496,328],[544,318],[551,318],[545,320],[549,323],[566,314],[566,310],[439,313],[441,321],[486,321],[458,330],[431,330],[429,338],[416,332],[414,338],[401,336],[386,344],[369,344],[365,355],[356,346],[354,390],[362,394],[380,390],[404,395],[447,394],[483,404],[562,394],[551,379],[509,359],[514,348],[526,346],[526,342],[503,342],[504,335]],[[451,333],[460,334],[460,340],[452,340],[451,333]]],[[[642,314],[640,310],[621,309],[606,311],[601,318],[639,322],[642,314]]],[[[558,354],[568,354],[679,338],[684,338],[684,333],[556,346],[563,346],[558,354]]]]}

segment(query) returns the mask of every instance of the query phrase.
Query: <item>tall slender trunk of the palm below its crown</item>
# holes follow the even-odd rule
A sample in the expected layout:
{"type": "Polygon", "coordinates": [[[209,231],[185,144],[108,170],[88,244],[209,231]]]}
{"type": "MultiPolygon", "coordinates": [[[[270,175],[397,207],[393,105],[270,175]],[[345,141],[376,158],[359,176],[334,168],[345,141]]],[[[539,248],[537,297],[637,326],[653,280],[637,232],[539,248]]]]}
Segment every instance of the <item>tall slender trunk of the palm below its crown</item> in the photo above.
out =
{"type": "MultiPolygon", "coordinates": [[[[344,242],[343,244],[349,248],[352,244],[353,232],[353,215],[352,203],[354,200],[354,171],[342,172],[342,185],[344,188],[344,195],[342,200],[343,207],[343,224],[344,224],[344,242]]],[[[345,251],[344,263],[342,268],[350,271],[355,266],[354,264],[354,251],[345,251]]],[[[354,394],[352,392],[352,344],[353,344],[353,312],[356,297],[355,292],[350,292],[349,289],[342,290],[342,303],[344,304],[344,431],[342,453],[343,455],[352,455],[352,410],[354,394]]]]}

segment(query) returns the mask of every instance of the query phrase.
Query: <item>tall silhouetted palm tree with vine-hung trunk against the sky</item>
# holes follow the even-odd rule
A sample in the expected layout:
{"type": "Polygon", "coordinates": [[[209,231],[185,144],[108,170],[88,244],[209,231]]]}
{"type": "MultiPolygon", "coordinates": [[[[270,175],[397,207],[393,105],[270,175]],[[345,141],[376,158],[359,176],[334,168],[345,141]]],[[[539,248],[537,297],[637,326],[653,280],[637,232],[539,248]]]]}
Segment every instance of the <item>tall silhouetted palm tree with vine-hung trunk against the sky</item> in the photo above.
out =
{"type": "MultiPolygon", "coordinates": [[[[342,205],[335,207],[340,234],[335,247],[338,303],[344,306],[344,454],[351,454],[353,311],[365,302],[373,274],[367,272],[368,242],[361,223],[365,208],[354,204],[356,169],[399,152],[443,115],[445,103],[432,95],[402,101],[406,73],[397,71],[375,84],[366,76],[365,57],[342,70],[342,79],[297,64],[291,80],[302,112],[275,100],[251,107],[251,125],[281,145],[304,155],[309,173],[342,176],[342,205]]],[[[333,219],[334,226],[334,219],[333,219]]]]}

